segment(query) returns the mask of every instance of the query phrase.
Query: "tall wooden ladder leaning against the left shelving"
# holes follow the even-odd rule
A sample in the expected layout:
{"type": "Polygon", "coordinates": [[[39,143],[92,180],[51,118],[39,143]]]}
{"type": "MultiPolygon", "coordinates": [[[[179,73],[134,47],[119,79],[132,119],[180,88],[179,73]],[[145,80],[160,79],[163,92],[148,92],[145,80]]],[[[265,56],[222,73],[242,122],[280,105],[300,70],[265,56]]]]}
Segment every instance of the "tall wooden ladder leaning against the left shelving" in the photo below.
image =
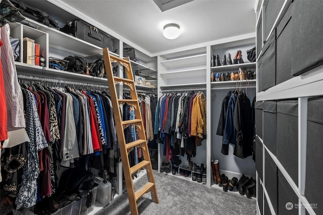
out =
{"type": "Polygon", "coordinates": [[[129,205],[131,214],[138,214],[137,201],[143,196],[143,194],[150,191],[151,198],[155,203],[158,203],[158,196],[156,191],[156,185],[153,178],[152,167],[150,162],[150,156],[147,146],[146,134],[144,131],[144,126],[142,122],[142,117],[140,113],[139,101],[137,97],[137,92],[135,88],[135,83],[132,75],[132,68],[130,64],[129,57],[122,59],[120,57],[110,55],[108,48],[103,48],[103,58],[104,67],[107,76],[107,82],[109,84],[109,91],[112,100],[113,113],[115,118],[115,125],[118,134],[118,141],[120,146],[120,154],[123,165],[123,172],[126,180],[126,187],[129,198],[129,205]],[[127,78],[116,77],[113,74],[112,63],[117,62],[120,66],[124,66],[127,71],[127,78]],[[116,84],[123,83],[130,88],[131,99],[119,99],[116,91],[116,84]],[[135,119],[123,121],[120,112],[120,105],[127,103],[132,105],[135,111],[135,119]],[[138,127],[139,138],[136,141],[129,142],[126,144],[124,129],[129,125],[135,125],[138,127]],[[130,167],[129,163],[129,153],[134,149],[134,147],[142,148],[143,161],[130,167]],[[146,168],[148,182],[135,192],[134,185],[132,182],[132,174],[136,173],[142,168],[146,168]]]}

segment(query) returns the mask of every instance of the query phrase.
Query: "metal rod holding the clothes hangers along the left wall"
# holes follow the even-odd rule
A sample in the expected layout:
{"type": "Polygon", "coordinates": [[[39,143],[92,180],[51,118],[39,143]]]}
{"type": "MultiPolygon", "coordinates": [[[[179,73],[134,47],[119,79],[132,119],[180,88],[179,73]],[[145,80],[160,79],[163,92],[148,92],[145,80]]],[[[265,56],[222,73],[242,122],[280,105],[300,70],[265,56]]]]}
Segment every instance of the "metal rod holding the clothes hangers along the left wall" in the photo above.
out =
{"type": "Polygon", "coordinates": [[[20,74],[18,74],[18,79],[24,79],[24,80],[30,80],[30,81],[39,81],[39,82],[50,82],[50,83],[60,84],[60,85],[78,85],[78,86],[86,86],[86,87],[89,87],[89,88],[109,89],[109,87],[107,85],[96,85],[96,84],[83,83],[83,82],[66,81],[66,80],[50,79],[50,78],[41,78],[41,77],[35,77],[35,76],[25,76],[25,75],[20,75],[20,74]]]}

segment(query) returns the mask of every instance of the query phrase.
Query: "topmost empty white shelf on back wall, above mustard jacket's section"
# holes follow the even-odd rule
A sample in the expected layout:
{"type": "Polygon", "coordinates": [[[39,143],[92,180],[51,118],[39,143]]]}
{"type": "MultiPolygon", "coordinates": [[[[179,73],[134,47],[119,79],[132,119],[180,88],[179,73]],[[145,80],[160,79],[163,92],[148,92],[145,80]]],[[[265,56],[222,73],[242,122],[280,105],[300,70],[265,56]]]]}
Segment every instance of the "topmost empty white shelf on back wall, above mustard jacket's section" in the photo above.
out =
{"type": "Polygon", "coordinates": [[[200,65],[206,64],[206,54],[198,54],[194,56],[181,57],[176,59],[164,60],[160,61],[160,64],[165,66],[166,68],[176,68],[181,66],[189,66],[189,65],[200,65]]]}

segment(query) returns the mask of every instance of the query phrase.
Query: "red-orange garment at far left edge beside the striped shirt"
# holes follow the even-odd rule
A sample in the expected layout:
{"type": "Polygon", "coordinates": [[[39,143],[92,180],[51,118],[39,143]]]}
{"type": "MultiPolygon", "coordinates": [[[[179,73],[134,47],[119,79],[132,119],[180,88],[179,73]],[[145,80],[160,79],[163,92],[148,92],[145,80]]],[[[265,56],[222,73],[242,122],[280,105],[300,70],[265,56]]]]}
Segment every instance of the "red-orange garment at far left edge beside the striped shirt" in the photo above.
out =
{"type": "MultiPolygon", "coordinates": [[[[0,52],[1,46],[4,43],[0,40],[0,52]]],[[[4,83],[4,76],[2,72],[2,63],[0,59],[0,141],[8,139],[8,132],[7,132],[7,105],[6,105],[6,91],[5,91],[5,83],[4,83]]],[[[1,146],[0,146],[1,149],[1,146]]]]}

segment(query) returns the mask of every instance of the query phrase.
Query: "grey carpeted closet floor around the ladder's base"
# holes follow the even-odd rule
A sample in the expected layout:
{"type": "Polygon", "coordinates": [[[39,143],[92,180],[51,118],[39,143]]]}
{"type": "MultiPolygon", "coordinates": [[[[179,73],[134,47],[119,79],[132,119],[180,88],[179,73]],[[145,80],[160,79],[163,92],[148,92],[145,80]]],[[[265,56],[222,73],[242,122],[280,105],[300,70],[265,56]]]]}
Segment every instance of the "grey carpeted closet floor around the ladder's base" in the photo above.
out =
{"type": "MultiPolygon", "coordinates": [[[[174,177],[155,170],[153,173],[159,204],[151,200],[150,192],[146,193],[138,200],[139,214],[256,214],[255,199],[208,188],[184,176],[174,177]]],[[[147,176],[140,178],[135,183],[135,190],[146,182],[147,176]]],[[[127,193],[124,192],[96,214],[131,214],[127,193]]]]}

